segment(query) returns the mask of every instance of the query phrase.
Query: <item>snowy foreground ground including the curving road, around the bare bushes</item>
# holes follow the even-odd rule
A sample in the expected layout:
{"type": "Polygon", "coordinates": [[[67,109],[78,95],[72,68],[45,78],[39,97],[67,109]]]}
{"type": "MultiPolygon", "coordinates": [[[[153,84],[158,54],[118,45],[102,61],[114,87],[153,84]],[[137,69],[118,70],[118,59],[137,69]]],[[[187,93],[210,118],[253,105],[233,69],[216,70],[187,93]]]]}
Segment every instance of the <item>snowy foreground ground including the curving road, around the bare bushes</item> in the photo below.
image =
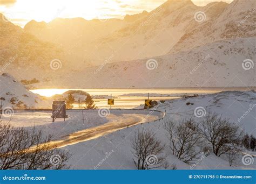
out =
{"type": "MultiPolygon", "coordinates": [[[[204,110],[204,114],[216,112],[231,122],[240,125],[241,129],[256,136],[256,93],[255,91],[225,91],[212,95],[159,102],[156,110],[111,110],[109,116],[100,117],[99,110],[69,110],[69,118],[63,122],[58,119],[51,122],[51,112],[15,112],[11,124],[40,129],[45,135],[53,134],[55,140],[60,141],[60,149],[69,151],[72,157],[68,164],[71,169],[136,169],[133,163],[131,138],[138,129],[151,130],[156,137],[165,144],[164,155],[169,165],[176,165],[177,169],[256,169],[255,163],[230,167],[224,157],[217,157],[210,153],[202,158],[198,155],[190,164],[180,161],[171,153],[169,140],[163,125],[166,121],[179,122],[181,119],[195,118],[195,109],[204,110]],[[84,121],[83,121],[84,119],[84,121]],[[159,119],[159,121],[156,121],[159,119]],[[148,122],[148,123],[145,123],[148,122]],[[127,128],[127,124],[130,124],[127,128]],[[132,126],[133,125],[133,126],[132,126]],[[69,135],[69,136],[68,136],[69,135]],[[66,146],[67,145],[67,146],[66,146]]],[[[8,118],[5,118],[7,121],[8,118]]],[[[255,154],[250,151],[245,153],[255,154]]]]}

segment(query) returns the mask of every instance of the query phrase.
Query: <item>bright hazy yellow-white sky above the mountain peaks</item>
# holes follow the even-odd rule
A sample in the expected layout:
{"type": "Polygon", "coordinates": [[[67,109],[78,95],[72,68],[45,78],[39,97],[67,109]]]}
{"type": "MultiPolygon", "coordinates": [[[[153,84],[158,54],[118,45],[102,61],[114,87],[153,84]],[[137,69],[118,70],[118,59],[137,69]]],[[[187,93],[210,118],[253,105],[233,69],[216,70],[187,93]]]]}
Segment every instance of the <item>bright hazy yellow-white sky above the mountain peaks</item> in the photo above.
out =
{"type": "MultiPolygon", "coordinates": [[[[192,0],[200,6],[214,1],[220,0],[192,0]]],[[[164,2],[166,0],[0,0],[0,12],[11,22],[24,26],[32,19],[50,22],[57,17],[122,18],[126,14],[151,11],[164,2]]]]}

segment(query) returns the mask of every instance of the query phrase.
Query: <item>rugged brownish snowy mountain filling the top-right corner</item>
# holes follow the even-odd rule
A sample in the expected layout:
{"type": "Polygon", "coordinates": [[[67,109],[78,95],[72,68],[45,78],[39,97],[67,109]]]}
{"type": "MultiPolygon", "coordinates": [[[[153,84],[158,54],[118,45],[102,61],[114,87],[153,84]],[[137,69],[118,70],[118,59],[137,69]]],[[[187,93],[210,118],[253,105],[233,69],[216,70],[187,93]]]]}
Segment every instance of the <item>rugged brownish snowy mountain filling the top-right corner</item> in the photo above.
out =
{"type": "Polygon", "coordinates": [[[210,3],[200,11],[203,13],[201,15],[199,13],[198,20],[202,18],[203,21],[198,22],[196,26],[187,27],[185,34],[170,53],[189,51],[191,48],[219,40],[256,36],[256,1],[254,0],[235,0],[229,5],[223,2],[210,3]]]}

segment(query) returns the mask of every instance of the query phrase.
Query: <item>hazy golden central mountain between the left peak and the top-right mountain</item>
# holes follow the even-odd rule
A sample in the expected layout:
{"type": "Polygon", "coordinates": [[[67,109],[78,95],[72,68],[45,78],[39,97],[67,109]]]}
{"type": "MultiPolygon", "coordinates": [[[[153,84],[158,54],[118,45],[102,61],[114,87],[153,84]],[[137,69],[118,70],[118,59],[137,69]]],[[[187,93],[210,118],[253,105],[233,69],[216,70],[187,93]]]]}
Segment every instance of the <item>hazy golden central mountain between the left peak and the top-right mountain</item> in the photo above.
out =
{"type": "Polygon", "coordinates": [[[66,56],[70,55],[79,65],[101,65],[109,57],[107,62],[168,53],[191,20],[194,22],[197,9],[190,0],[167,1],[150,13],[126,16],[124,20],[58,18],[48,24],[32,20],[24,30],[62,46],[66,56]]]}

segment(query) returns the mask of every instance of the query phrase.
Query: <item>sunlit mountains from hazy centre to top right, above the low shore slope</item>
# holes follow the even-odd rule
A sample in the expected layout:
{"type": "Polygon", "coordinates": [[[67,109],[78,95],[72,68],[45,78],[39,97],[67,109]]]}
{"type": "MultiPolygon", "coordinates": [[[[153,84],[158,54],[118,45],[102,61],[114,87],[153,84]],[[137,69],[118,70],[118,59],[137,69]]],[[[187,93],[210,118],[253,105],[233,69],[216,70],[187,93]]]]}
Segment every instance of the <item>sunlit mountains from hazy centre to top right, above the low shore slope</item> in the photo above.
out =
{"type": "Polygon", "coordinates": [[[176,0],[134,15],[132,21],[127,16],[106,22],[75,18],[46,24],[32,20],[24,30],[62,45],[66,56],[79,60],[79,65],[100,65],[109,57],[107,62],[144,59],[214,41],[254,37],[255,8],[254,0],[214,2],[203,7],[190,0],[176,0]]]}

